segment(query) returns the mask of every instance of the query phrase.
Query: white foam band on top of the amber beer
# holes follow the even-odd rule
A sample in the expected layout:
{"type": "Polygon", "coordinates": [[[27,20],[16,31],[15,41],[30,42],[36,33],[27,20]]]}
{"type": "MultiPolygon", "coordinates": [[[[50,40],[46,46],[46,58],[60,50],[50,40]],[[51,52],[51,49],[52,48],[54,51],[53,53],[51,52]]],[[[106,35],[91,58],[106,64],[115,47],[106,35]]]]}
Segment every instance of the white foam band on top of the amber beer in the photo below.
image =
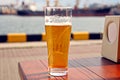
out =
{"type": "Polygon", "coordinates": [[[72,20],[68,16],[45,16],[45,25],[72,25],[72,20]]]}

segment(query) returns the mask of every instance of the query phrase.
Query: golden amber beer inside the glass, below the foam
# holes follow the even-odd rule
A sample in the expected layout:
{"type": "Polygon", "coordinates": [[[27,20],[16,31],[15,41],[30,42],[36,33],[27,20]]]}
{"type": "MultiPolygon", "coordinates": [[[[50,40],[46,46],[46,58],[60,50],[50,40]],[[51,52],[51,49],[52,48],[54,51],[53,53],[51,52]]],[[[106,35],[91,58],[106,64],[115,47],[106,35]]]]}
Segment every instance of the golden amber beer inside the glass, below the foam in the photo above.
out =
{"type": "Polygon", "coordinates": [[[49,68],[67,68],[71,25],[47,25],[45,30],[49,68]]]}

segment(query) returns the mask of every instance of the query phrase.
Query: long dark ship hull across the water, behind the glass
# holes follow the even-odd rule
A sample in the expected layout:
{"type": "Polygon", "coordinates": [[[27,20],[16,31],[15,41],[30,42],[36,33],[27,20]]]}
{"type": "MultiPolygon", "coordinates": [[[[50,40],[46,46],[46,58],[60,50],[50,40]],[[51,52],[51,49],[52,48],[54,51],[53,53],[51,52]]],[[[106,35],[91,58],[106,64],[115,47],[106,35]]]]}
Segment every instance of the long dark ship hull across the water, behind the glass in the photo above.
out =
{"type": "MultiPolygon", "coordinates": [[[[109,15],[110,10],[110,7],[100,9],[73,9],[72,16],[105,16],[109,15]]],[[[44,16],[44,11],[18,10],[17,14],[20,16],[44,16]]]]}

